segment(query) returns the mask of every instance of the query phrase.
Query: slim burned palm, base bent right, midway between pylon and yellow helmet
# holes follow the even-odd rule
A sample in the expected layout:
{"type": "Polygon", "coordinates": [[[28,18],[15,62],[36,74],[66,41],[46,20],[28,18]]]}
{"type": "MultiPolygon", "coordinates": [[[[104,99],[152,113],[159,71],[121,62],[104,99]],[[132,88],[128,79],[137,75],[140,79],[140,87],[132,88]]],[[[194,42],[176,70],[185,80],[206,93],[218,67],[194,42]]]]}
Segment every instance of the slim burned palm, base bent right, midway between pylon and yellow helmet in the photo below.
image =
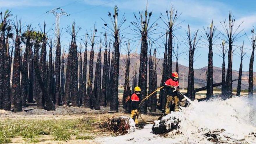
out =
{"type": "MultiPolygon", "coordinates": [[[[94,23],[94,29],[91,30],[91,35],[89,37],[90,45],[91,45],[91,51],[90,51],[90,60],[89,60],[89,79],[87,83],[87,97],[90,97],[90,108],[91,109],[100,109],[99,104],[97,103],[96,97],[93,93],[93,59],[94,59],[94,45],[95,45],[95,36],[97,33],[97,29],[95,28],[94,23]]],[[[89,35],[86,33],[86,35],[89,35]]]]}

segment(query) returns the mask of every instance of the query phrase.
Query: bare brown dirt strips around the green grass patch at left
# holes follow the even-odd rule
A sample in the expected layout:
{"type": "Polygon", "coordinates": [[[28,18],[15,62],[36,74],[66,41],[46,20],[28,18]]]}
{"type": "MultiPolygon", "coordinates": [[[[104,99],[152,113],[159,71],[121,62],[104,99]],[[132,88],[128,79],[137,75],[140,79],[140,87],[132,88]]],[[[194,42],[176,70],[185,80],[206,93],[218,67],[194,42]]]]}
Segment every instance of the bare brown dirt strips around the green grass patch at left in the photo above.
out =
{"type": "MultiPolygon", "coordinates": [[[[37,109],[36,106],[29,106],[23,109],[22,112],[13,113],[11,111],[0,110],[0,120],[58,120],[58,119],[82,119],[84,117],[97,117],[108,118],[111,116],[130,116],[129,113],[125,113],[125,109],[120,105],[118,113],[108,113],[110,107],[101,107],[101,110],[91,110],[89,108],[81,107],[68,107],[58,106],[56,111],[46,111],[44,109],[37,109]]],[[[147,121],[154,121],[159,118],[161,111],[149,112],[148,115],[142,115],[143,119],[147,121]]],[[[139,118],[139,123],[143,126],[145,123],[139,118]]],[[[110,132],[101,132],[99,127],[95,127],[91,131],[90,135],[94,138],[105,137],[113,135],[110,132]],[[96,129],[96,130],[95,130],[96,129]],[[97,131],[97,132],[96,132],[97,131]]],[[[27,143],[22,137],[15,137],[11,139],[12,143],[23,144],[27,143]]],[[[71,136],[69,141],[54,141],[51,135],[42,135],[39,138],[38,144],[96,144],[95,140],[76,140],[75,136],[71,136]]]]}

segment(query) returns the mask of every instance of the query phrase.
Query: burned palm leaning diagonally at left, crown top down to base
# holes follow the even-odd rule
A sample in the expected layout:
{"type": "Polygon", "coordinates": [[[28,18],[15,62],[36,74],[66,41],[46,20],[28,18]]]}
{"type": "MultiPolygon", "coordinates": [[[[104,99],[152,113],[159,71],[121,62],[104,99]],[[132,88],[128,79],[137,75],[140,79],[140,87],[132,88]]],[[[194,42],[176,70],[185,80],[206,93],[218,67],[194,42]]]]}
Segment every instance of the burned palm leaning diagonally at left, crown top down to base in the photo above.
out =
{"type": "MultiPolygon", "coordinates": [[[[44,100],[45,100],[45,109],[47,111],[55,111],[55,105],[51,100],[50,94],[51,91],[47,90],[49,88],[45,87],[45,81],[43,81],[41,74],[40,74],[40,69],[38,66],[38,49],[40,47],[40,42],[42,42],[42,34],[40,32],[35,33],[35,45],[34,45],[34,59],[33,59],[33,63],[34,63],[34,69],[35,69],[35,75],[37,77],[39,86],[41,88],[42,93],[44,94],[44,100]]],[[[51,47],[50,47],[51,49],[51,47]]],[[[48,79],[49,80],[49,79],[48,79]]]]}

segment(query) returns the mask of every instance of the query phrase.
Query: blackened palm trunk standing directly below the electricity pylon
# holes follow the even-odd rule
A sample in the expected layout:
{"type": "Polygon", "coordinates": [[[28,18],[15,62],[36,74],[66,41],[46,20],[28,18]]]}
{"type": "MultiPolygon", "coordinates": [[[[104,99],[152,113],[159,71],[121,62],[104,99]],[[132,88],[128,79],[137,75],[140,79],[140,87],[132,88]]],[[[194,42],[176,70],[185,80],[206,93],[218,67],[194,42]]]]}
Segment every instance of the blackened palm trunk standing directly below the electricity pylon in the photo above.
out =
{"type": "Polygon", "coordinates": [[[55,70],[54,73],[56,75],[56,89],[55,89],[55,105],[60,105],[61,103],[61,42],[60,35],[58,35],[58,42],[56,47],[56,57],[55,57],[55,70]]]}

